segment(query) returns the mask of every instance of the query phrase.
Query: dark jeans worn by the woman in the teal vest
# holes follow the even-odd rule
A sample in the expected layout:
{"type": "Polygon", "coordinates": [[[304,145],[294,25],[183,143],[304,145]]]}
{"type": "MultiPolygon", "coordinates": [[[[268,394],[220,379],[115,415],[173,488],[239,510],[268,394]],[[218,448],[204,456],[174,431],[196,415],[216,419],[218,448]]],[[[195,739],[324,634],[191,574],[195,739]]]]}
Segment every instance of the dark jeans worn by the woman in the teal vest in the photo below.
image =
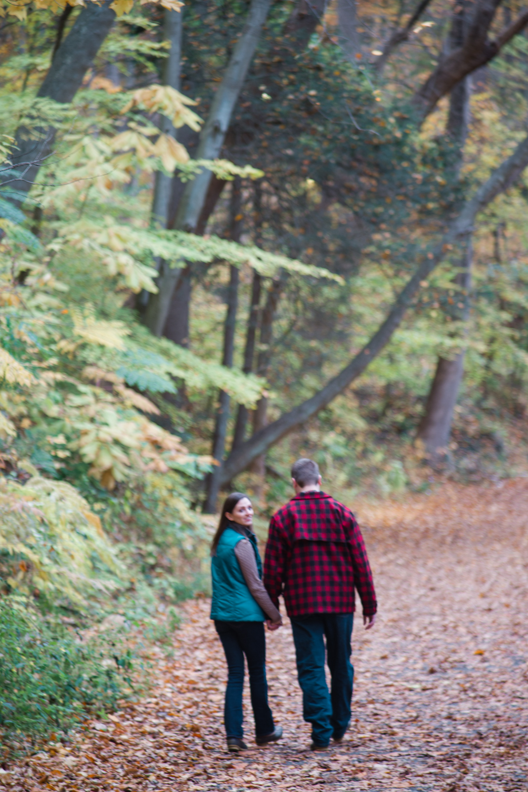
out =
{"type": "Polygon", "coordinates": [[[262,622],[215,622],[228,661],[228,687],[225,691],[224,724],[227,737],[243,737],[242,691],[246,655],[255,715],[255,734],[264,737],[275,728],[268,706],[266,682],[266,638],[262,622]]]}

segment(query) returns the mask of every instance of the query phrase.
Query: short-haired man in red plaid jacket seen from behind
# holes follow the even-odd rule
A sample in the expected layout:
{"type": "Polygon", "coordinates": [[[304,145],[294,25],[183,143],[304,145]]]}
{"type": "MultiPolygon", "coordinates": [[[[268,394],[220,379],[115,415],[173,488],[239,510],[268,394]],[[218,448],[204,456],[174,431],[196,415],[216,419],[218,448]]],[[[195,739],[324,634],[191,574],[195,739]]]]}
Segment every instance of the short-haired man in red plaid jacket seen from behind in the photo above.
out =
{"type": "Polygon", "coordinates": [[[374,583],[363,537],[353,513],[321,492],[319,467],[311,459],[292,466],[296,495],[273,515],[263,582],[273,604],[285,598],[292,623],[304,720],[311,723],[311,750],[341,742],[349,728],[354,669],[350,662],[354,588],[367,630],[374,626],[374,583]],[[325,677],[325,643],[332,676],[325,677]]]}

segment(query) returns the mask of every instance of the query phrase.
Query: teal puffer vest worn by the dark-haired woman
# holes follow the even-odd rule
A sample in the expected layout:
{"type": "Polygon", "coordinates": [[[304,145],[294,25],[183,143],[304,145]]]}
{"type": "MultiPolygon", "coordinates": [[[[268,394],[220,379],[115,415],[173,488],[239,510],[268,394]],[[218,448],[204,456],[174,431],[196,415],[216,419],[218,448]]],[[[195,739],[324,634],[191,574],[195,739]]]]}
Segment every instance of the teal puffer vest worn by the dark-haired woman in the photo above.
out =
{"type": "Polygon", "coordinates": [[[262,607],[247,588],[242,569],[236,560],[235,547],[241,539],[246,538],[253,545],[258,574],[262,577],[262,562],[255,537],[245,537],[227,527],[217,545],[217,554],[211,559],[211,619],[221,622],[263,622],[266,619],[262,607]]]}

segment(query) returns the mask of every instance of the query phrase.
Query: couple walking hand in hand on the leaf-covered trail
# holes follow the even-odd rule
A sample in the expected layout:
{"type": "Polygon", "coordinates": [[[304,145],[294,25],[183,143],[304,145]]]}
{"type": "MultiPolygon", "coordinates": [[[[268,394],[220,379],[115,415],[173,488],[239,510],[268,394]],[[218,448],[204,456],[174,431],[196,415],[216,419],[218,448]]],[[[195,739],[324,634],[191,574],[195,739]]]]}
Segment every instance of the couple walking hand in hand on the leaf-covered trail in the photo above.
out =
{"type": "Polygon", "coordinates": [[[367,629],[374,626],[376,600],[371,569],[353,513],[321,491],[319,467],[311,459],[292,466],[295,497],[273,515],[262,562],[251,526],[253,508],[243,493],[224,501],[212,545],[211,619],[228,664],[224,725],[228,750],[243,742],[244,655],[258,745],[282,737],[273,723],[266,683],[266,638],[281,622],[284,596],[292,624],[304,720],[311,723],[311,749],[341,742],[350,722],[354,669],[352,653],[354,588],[367,629]],[[332,677],[328,690],[326,661],[332,677]]]}

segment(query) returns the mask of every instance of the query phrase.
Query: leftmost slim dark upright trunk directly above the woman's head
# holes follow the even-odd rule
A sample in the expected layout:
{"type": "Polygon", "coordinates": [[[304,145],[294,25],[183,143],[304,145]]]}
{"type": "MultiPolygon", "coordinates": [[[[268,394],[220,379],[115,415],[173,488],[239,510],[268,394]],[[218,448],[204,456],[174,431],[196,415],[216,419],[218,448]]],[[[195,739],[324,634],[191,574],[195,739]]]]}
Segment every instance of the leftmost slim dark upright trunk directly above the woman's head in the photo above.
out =
{"type": "MultiPolygon", "coordinates": [[[[231,205],[229,210],[230,223],[228,236],[239,242],[242,233],[242,189],[240,177],[235,177],[232,185],[231,205]]],[[[235,351],[235,329],[236,329],[236,310],[238,308],[238,289],[239,289],[239,268],[231,265],[229,268],[229,287],[228,287],[228,311],[224,325],[224,356],[222,365],[232,368],[233,353],[235,351]]],[[[224,461],[225,438],[227,436],[229,421],[229,402],[230,398],[224,390],[220,391],[218,400],[217,419],[213,436],[213,459],[217,465],[206,478],[206,502],[204,512],[214,514],[217,509],[218,492],[221,486],[220,474],[221,466],[224,461]]]]}

